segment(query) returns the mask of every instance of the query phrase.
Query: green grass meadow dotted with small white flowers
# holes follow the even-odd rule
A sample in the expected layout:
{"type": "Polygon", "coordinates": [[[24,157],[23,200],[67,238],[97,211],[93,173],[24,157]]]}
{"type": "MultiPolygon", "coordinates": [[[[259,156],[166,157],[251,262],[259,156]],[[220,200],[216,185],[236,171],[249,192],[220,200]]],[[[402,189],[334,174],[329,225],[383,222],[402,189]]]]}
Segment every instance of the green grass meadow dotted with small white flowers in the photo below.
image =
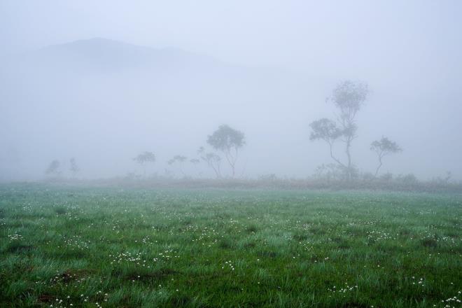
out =
{"type": "Polygon", "coordinates": [[[1,307],[462,307],[462,195],[0,186],[1,307]]]}

